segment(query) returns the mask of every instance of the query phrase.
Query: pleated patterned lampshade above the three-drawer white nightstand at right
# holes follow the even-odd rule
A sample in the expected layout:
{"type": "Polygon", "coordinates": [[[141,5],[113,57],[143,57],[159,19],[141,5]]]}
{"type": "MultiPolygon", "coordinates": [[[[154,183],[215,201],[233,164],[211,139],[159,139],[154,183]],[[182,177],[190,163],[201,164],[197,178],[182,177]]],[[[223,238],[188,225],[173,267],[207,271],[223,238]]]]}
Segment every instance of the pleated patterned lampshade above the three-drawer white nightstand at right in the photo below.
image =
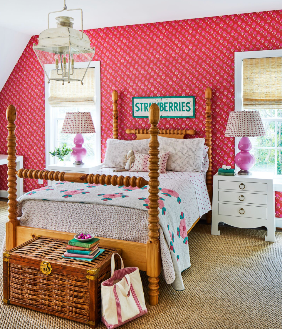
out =
{"type": "Polygon", "coordinates": [[[264,126],[258,111],[230,112],[225,130],[226,137],[265,136],[264,126]]]}

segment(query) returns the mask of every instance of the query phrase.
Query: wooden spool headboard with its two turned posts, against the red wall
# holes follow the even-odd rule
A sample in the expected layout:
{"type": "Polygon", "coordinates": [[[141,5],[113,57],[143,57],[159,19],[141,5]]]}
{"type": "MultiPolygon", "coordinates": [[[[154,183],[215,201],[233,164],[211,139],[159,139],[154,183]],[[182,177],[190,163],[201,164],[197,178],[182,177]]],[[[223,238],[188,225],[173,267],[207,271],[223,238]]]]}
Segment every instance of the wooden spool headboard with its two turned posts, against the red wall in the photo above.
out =
{"type": "MultiPolygon", "coordinates": [[[[211,162],[211,89],[206,87],[206,146],[208,146],[209,166],[206,172],[206,185],[212,202],[212,162],[211,162]]],[[[118,92],[113,91],[113,138],[118,139],[118,92]]],[[[136,139],[150,138],[149,129],[126,129],[126,134],[135,134],[136,139]]],[[[185,135],[195,135],[194,129],[160,129],[160,136],[183,139],[185,135]]],[[[211,223],[211,211],[206,214],[207,223],[211,223]]]]}

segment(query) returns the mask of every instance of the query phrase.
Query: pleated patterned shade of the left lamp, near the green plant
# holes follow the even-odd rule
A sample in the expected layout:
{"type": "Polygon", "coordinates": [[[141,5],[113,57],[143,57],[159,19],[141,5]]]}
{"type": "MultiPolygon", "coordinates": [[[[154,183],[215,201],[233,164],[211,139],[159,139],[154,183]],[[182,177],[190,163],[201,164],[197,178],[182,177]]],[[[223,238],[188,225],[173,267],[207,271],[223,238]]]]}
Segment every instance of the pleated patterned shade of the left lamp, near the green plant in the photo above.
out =
{"type": "Polygon", "coordinates": [[[64,134],[91,134],[95,127],[90,112],[67,112],[62,128],[64,134]]]}

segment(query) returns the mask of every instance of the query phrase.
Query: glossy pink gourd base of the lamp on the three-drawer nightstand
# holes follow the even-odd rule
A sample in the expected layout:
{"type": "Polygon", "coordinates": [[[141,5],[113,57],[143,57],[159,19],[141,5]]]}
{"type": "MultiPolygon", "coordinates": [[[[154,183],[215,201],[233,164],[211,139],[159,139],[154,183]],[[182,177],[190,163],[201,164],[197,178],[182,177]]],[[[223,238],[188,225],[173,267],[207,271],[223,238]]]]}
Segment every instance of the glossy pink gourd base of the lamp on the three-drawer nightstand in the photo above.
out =
{"type": "Polygon", "coordinates": [[[255,164],[255,157],[249,151],[252,149],[249,137],[242,137],[239,141],[238,148],[241,152],[235,155],[235,164],[241,169],[238,175],[251,175],[249,171],[255,164]]]}

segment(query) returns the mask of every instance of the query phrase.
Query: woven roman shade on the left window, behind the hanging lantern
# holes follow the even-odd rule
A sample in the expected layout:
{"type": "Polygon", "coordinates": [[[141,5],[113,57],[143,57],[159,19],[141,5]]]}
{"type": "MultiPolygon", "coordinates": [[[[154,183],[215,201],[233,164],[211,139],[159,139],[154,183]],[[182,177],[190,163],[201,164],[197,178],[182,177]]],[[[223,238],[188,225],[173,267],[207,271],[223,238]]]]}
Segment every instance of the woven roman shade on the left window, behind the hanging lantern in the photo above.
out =
{"type": "MultiPolygon", "coordinates": [[[[74,69],[72,78],[81,78],[85,68],[74,69]],[[82,73],[83,72],[83,73],[82,73]]],[[[65,82],[62,85],[61,81],[50,81],[50,97],[48,98],[49,104],[52,107],[95,107],[95,68],[88,69],[87,74],[81,82],[65,82]]],[[[57,72],[51,71],[51,78],[56,78],[57,72]]]]}

